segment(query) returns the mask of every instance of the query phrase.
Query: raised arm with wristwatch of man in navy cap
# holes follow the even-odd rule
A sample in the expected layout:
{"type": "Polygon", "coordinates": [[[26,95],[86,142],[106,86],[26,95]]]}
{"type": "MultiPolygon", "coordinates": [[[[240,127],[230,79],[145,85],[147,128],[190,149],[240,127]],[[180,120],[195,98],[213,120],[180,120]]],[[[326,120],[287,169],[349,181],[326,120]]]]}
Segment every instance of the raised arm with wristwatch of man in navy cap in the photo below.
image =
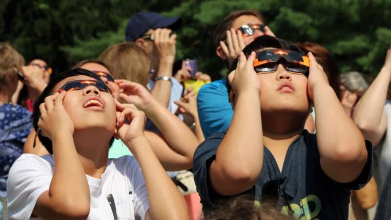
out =
{"type": "MultiPolygon", "coordinates": [[[[156,29],[154,44],[159,53],[159,69],[156,77],[173,76],[173,65],[175,59],[176,35],[170,36],[170,29],[156,29]]],[[[171,95],[171,80],[156,80],[151,90],[152,97],[164,107],[168,107],[171,95]]]]}

